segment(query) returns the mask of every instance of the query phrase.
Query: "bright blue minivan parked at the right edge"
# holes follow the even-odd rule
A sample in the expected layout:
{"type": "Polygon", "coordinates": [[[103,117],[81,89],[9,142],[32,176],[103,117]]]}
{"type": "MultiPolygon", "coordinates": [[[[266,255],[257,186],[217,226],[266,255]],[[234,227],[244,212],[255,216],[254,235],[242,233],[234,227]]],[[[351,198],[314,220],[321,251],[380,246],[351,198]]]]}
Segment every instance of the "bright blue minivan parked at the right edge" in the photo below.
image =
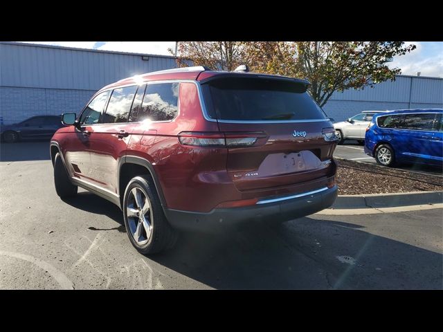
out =
{"type": "Polygon", "coordinates": [[[401,109],[377,114],[365,133],[365,154],[377,163],[443,164],[443,109],[401,109]]]}

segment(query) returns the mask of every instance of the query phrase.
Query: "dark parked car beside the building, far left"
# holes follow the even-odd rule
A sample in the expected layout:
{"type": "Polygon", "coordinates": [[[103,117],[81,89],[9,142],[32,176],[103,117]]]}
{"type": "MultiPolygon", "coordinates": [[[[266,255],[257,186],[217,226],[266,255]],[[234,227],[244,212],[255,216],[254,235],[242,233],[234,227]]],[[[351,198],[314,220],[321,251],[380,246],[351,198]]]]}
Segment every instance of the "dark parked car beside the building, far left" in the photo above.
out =
{"type": "Polygon", "coordinates": [[[19,123],[2,125],[0,131],[3,142],[13,143],[18,140],[49,139],[62,127],[60,116],[33,116],[19,123]]]}

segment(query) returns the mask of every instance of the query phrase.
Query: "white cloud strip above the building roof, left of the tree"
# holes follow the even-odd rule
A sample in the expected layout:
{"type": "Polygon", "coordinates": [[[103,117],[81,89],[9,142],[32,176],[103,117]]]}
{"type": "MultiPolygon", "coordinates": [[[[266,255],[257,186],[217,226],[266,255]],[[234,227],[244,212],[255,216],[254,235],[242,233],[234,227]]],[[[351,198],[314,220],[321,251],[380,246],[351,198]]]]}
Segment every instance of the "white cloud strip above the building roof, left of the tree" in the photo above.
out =
{"type": "Polygon", "coordinates": [[[99,50],[118,50],[120,52],[171,55],[168,48],[175,49],[175,42],[107,42],[99,50]]]}

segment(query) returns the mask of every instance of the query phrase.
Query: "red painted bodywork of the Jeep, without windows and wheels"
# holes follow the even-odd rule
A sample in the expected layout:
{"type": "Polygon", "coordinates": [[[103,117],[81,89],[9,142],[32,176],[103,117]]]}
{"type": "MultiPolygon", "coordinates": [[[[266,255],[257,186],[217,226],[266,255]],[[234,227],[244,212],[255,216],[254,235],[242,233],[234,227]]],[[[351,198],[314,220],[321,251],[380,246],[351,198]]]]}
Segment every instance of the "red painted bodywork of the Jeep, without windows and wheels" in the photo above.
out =
{"type": "Polygon", "coordinates": [[[179,114],[170,122],[83,126],[89,134],[74,126],[59,129],[53,141],[60,147],[71,177],[119,198],[123,195],[119,189],[122,159],[140,157],[154,169],[165,208],[192,212],[210,212],[230,201],[254,203],[253,199],[267,196],[308,192],[333,181],[336,167],[332,153],[336,143],[325,141],[322,135],[323,128],[332,127],[329,120],[257,124],[206,120],[198,82],[215,75],[217,72],[213,71],[156,73],[136,80],[128,78],[103,88],[101,91],[140,81],[181,80],[179,114]],[[118,137],[122,130],[129,136],[118,137]],[[262,131],[266,137],[258,138],[251,147],[196,147],[181,144],[178,135],[183,131],[262,131]],[[293,131],[306,131],[307,136],[295,138],[293,131]],[[304,159],[298,160],[300,151],[307,152],[304,159]],[[280,157],[282,163],[278,161],[280,157]],[[284,158],[290,158],[293,165],[284,158]],[[314,161],[306,161],[307,158],[314,161]],[[325,167],[311,164],[318,165],[325,160],[331,160],[325,167]],[[297,168],[291,168],[296,172],[284,172],[284,167],[298,167],[296,163],[299,163],[299,172],[297,168]],[[258,174],[254,175],[255,172],[258,174]]]}

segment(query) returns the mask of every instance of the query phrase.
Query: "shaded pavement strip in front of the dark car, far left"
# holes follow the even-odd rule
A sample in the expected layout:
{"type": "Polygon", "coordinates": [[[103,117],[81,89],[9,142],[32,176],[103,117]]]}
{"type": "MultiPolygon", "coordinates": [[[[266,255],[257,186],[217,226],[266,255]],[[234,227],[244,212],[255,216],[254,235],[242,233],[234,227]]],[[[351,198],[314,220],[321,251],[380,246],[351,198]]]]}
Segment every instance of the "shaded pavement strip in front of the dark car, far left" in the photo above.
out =
{"type": "Polygon", "coordinates": [[[0,161],[51,160],[49,141],[0,143],[0,161]]]}

